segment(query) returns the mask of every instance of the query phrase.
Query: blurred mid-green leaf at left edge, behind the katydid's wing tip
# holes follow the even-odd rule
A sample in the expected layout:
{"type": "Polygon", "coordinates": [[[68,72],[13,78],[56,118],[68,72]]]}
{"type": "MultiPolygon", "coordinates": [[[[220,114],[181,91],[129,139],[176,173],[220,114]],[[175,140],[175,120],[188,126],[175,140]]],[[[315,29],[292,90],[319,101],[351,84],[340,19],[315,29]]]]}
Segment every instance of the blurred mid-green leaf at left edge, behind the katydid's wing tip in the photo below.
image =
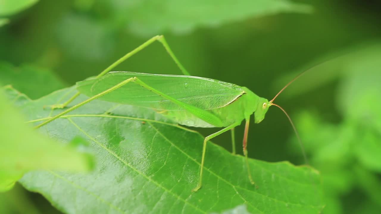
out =
{"type": "Polygon", "coordinates": [[[8,62],[0,62],[0,80],[4,85],[12,85],[32,99],[65,87],[50,70],[34,65],[15,67],[8,62]]]}

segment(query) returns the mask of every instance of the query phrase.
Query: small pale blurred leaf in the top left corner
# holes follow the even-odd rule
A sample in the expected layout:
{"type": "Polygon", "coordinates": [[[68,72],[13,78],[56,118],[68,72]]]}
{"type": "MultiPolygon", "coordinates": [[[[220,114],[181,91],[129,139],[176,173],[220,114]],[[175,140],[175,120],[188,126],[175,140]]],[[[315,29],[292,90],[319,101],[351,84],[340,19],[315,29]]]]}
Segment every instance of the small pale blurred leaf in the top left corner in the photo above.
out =
{"type": "Polygon", "coordinates": [[[10,16],[16,14],[30,6],[38,0],[0,0],[0,16],[10,16]]]}

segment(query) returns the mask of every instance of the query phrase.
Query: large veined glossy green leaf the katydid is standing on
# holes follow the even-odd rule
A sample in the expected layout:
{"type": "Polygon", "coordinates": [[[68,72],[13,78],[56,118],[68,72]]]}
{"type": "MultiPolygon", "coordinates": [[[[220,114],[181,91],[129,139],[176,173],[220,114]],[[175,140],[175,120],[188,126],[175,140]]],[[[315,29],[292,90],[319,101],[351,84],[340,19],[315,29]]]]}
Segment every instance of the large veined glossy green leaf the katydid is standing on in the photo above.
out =
{"type": "MultiPolygon", "coordinates": [[[[69,88],[16,104],[29,120],[42,121],[61,111],[43,105],[74,93],[69,88]]],[[[96,100],[40,131],[62,141],[82,136],[96,151],[93,174],[38,171],[22,178],[24,187],[42,193],[65,213],[208,213],[246,204],[250,213],[308,214],[323,208],[314,169],[250,160],[254,186],[243,157],[213,143],[207,147],[203,187],[193,193],[203,137],[149,109],[96,100]]]]}

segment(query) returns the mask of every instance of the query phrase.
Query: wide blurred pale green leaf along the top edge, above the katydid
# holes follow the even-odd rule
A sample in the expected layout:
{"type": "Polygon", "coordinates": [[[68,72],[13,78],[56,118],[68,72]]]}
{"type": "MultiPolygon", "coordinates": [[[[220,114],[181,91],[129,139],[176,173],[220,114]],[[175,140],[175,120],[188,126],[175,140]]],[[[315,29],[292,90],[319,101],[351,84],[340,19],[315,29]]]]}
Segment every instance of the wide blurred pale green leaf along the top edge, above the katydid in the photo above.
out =
{"type": "MultiPolygon", "coordinates": [[[[96,1],[97,11],[107,13],[134,34],[152,36],[164,31],[187,33],[196,27],[216,27],[226,22],[282,12],[308,13],[311,7],[288,0],[222,1],[96,1]],[[101,8],[102,7],[102,8],[101,8]],[[109,11],[107,11],[109,10],[109,11]]],[[[88,6],[77,5],[88,10],[88,6]]]]}

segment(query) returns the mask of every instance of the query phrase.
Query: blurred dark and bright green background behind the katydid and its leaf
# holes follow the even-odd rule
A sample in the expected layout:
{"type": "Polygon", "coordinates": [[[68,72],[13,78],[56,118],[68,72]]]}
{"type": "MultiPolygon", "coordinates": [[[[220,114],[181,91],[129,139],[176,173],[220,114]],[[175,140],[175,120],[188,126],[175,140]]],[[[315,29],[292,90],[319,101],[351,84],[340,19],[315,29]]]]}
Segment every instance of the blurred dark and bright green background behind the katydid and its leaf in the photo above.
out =
{"type": "MultiPolygon", "coordinates": [[[[144,1],[134,8],[136,2],[40,0],[7,16],[9,23],[0,27],[0,80],[37,99],[97,75],[157,34],[165,35],[192,75],[247,86],[268,99],[299,72],[313,67],[275,103],[294,119],[309,164],[322,174],[327,204],[323,213],[380,212],[378,2],[300,1],[312,5],[313,12],[172,26],[166,22],[172,14],[166,14],[169,18],[165,19],[150,13],[160,6],[158,1],[144,1]],[[37,78],[30,81],[29,73],[37,78]]],[[[186,11],[186,6],[177,6],[179,13],[186,11]]],[[[214,16],[212,10],[204,13],[214,16]]],[[[180,72],[160,43],[116,70],[180,72]]],[[[236,130],[237,141],[242,141],[243,127],[236,130]]],[[[207,135],[215,130],[198,131],[207,135]]],[[[229,133],[213,142],[231,150],[229,133]]],[[[250,127],[248,150],[251,158],[259,160],[305,164],[290,123],[275,107],[266,120],[250,127]]],[[[22,187],[0,198],[1,213],[59,213],[41,196],[22,187]]]]}

